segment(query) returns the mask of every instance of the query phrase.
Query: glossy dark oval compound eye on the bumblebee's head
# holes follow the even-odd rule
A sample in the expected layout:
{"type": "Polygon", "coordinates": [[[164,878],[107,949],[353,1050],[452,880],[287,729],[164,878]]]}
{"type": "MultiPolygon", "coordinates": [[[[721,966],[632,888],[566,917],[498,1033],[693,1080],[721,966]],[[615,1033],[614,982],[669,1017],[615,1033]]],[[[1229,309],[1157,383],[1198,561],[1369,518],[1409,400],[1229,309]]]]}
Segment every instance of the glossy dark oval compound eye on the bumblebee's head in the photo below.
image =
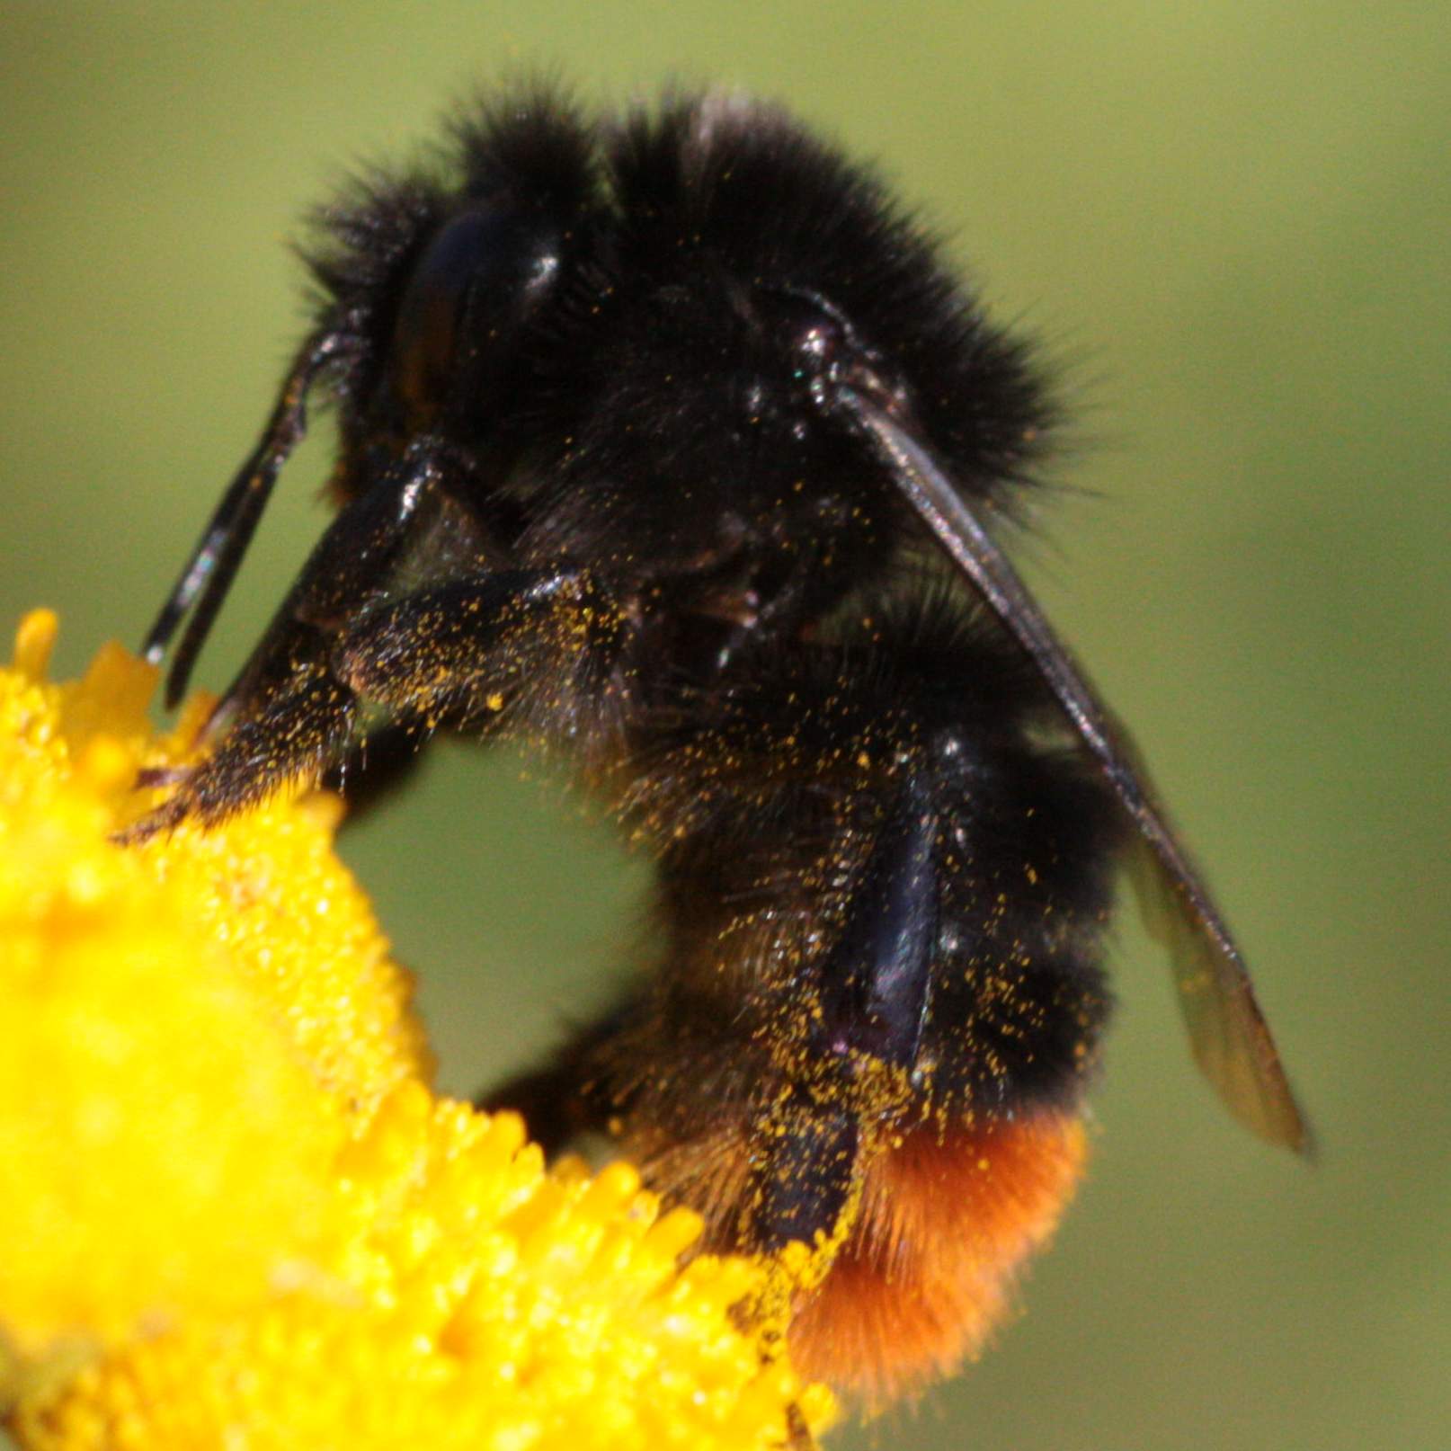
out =
{"type": "Polygon", "coordinates": [[[432,418],[464,379],[488,392],[514,331],[559,274],[560,241],[554,221],[508,202],[470,206],[443,225],[393,325],[393,387],[409,412],[432,418]]]}

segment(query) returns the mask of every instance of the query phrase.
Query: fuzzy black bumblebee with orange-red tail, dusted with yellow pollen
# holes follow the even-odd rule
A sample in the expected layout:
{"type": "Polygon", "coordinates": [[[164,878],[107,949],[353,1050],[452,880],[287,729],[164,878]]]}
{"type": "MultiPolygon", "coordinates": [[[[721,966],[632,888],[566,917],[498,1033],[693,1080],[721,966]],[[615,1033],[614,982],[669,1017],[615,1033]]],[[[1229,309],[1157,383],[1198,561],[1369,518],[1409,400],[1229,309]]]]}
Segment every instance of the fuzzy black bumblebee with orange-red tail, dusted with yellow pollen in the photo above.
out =
{"type": "Polygon", "coordinates": [[[711,1248],[800,1241],[791,1348],[972,1349],[1082,1154],[1120,860],[1196,1055],[1306,1148],[1239,952],[998,544],[1053,424],[874,174],[781,110],[518,90],[324,213],[312,331],[145,643],[186,688],[318,395],[340,512],[133,836],[374,727],[563,756],[659,866],[653,971],[492,1104],[611,1126],[711,1248]]]}

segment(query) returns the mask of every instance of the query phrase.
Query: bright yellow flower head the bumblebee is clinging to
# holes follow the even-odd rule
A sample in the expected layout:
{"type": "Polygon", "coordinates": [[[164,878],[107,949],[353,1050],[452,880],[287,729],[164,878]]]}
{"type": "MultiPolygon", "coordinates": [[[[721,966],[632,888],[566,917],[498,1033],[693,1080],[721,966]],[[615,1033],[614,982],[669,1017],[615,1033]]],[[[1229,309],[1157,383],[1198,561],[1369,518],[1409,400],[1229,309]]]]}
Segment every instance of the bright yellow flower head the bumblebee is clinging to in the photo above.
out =
{"type": "Polygon", "coordinates": [[[0,1413],[23,1447],[782,1445],[830,1396],[743,1333],[628,1165],[437,1098],[337,805],[122,849],[181,760],[106,647],[0,670],[0,1413]]]}

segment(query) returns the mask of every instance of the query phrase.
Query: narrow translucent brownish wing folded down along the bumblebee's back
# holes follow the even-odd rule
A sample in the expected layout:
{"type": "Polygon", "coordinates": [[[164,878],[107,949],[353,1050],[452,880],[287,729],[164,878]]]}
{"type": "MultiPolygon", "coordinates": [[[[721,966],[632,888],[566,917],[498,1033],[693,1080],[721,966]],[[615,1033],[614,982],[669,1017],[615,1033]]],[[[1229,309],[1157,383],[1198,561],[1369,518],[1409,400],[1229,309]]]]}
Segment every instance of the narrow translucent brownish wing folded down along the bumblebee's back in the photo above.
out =
{"type": "Polygon", "coordinates": [[[1188,853],[1159,808],[1127,733],[1098,701],[1017,572],[923,444],[884,406],[843,387],[839,400],[953,563],[1042,672],[1139,830],[1135,884],[1149,929],[1174,961],[1194,1056],[1229,1111],[1271,1143],[1309,1152],[1274,1039],[1235,946],[1188,853]]]}

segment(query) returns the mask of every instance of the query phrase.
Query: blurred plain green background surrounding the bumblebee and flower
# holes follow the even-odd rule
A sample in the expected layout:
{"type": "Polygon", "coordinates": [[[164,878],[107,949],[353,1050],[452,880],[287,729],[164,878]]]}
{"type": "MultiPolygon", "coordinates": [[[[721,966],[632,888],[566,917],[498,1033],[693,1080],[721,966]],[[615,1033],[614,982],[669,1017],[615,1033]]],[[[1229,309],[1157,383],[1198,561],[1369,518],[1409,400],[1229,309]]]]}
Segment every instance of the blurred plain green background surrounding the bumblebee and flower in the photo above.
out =
{"type": "MultiPolygon", "coordinates": [[[[299,331],[284,239],[450,97],[557,64],[788,99],[1069,360],[1029,572],[1133,721],[1322,1140],[1217,1109],[1132,913],[1090,1181],[982,1362],[842,1447],[1451,1445],[1444,3],[0,4],[0,621],[135,644],[299,331]]],[[[202,679],[325,515],[284,476],[202,679]]],[[[441,749],[345,837],[445,1088],[607,991],[638,863],[441,749]]]]}

